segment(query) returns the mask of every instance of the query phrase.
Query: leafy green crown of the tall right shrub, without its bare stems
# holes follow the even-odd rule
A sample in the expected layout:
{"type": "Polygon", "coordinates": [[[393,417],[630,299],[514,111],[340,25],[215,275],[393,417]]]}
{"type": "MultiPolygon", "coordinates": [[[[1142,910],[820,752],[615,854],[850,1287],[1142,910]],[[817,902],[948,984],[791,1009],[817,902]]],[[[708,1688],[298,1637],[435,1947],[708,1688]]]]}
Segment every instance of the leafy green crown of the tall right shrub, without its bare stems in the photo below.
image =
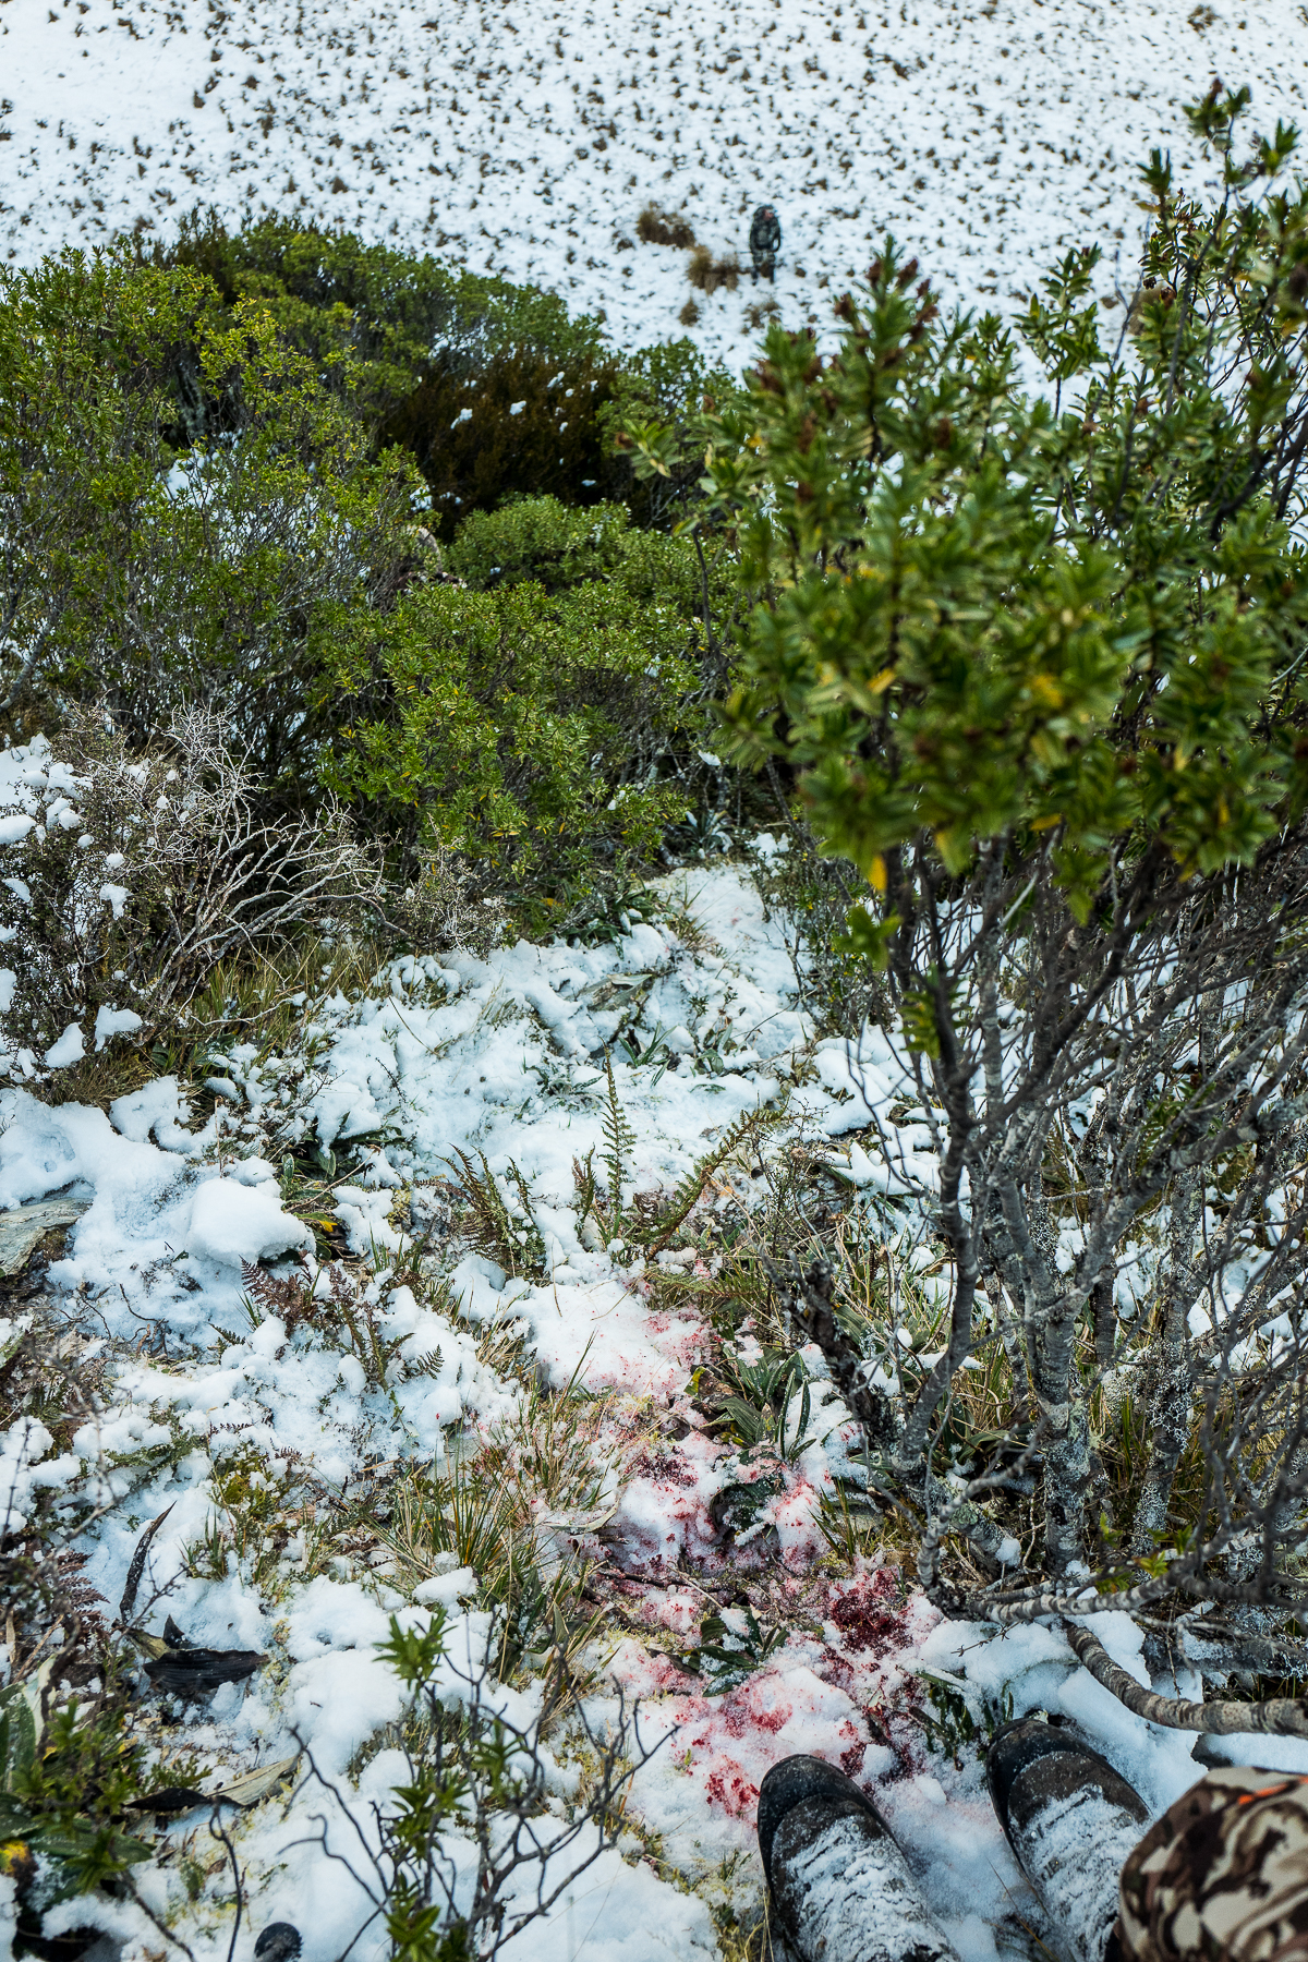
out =
{"type": "MultiPolygon", "coordinates": [[[[1196,114],[1233,141],[1239,106],[1196,114]]],[[[773,328],[747,400],[700,418],[757,598],[737,755],[794,765],[867,877],[859,952],[890,954],[910,848],[953,879],[1004,840],[1086,918],[1124,834],[1212,871],[1298,812],[1308,190],[1249,188],[1290,143],[1230,165],[1214,212],[1155,157],[1153,286],[1120,345],[1086,302],[1094,251],[1031,300],[1051,398],[1018,388],[998,318],[941,322],[886,245],[831,357],[773,328]]],[[[677,453],[667,428],[629,441],[645,473],[677,453]]]]}

